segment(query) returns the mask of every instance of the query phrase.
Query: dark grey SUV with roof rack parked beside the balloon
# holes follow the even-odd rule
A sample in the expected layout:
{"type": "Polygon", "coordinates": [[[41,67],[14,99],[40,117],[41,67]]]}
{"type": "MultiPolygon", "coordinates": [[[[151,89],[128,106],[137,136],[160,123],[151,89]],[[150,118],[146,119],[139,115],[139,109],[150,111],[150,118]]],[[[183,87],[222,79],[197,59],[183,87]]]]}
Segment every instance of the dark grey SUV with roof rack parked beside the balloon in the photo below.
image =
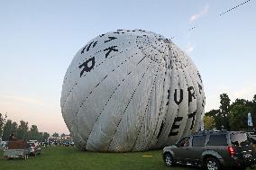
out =
{"type": "Polygon", "coordinates": [[[242,131],[203,131],[187,136],[163,148],[163,159],[167,166],[204,166],[207,170],[246,169],[256,164],[251,140],[242,131]]]}

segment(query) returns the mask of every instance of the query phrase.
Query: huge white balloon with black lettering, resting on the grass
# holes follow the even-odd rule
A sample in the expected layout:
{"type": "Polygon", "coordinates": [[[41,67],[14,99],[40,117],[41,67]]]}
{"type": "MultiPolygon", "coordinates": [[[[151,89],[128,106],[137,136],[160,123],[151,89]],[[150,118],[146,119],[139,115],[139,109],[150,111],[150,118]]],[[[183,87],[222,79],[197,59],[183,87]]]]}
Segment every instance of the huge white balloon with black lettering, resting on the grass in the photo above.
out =
{"type": "Polygon", "coordinates": [[[197,67],[171,40],[117,30],[78,50],[60,105],[81,150],[142,151],[199,130],[205,94],[197,67]]]}

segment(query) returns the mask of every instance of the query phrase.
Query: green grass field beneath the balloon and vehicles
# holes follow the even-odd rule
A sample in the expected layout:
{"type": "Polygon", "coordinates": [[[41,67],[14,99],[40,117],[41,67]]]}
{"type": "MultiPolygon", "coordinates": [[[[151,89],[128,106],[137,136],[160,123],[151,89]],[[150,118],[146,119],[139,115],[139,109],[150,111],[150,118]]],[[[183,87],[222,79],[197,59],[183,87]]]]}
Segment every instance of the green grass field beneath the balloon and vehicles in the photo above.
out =
{"type": "Polygon", "coordinates": [[[161,150],[136,153],[81,152],[73,147],[42,148],[41,155],[27,160],[3,158],[0,151],[0,170],[196,170],[193,167],[167,167],[161,150]],[[147,156],[147,157],[142,157],[147,156]],[[149,157],[150,156],[150,157],[149,157]]]}

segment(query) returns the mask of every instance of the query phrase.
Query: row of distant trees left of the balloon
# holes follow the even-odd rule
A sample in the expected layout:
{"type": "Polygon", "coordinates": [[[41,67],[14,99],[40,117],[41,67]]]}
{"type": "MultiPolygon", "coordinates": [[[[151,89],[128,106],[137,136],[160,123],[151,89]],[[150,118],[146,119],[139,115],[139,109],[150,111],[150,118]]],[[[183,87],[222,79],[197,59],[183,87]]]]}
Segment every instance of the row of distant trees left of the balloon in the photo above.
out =
{"type": "Polygon", "coordinates": [[[15,121],[7,120],[6,114],[0,112],[0,139],[2,137],[2,140],[6,141],[12,133],[16,139],[24,140],[44,141],[50,137],[49,133],[40,132],[36,125],[29,128],[28,122],[20,121],[18,124],[15,121]]]}

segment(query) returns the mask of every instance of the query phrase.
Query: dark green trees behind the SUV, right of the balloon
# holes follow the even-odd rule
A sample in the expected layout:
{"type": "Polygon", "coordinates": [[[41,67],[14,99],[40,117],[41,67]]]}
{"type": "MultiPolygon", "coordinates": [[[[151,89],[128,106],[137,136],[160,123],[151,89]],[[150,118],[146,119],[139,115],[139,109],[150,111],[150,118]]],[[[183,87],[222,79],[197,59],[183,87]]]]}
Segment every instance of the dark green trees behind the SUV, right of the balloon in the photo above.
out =
{"type": "Polygon", "coordinates": [[[205,130],[250,130],[249,112],[253,124],[251,130],[256,130],[256,94],[251,101],[236,99],[233,103],[228,94],[220,94],[219,109],[213,109],[205,114],[205,130]]]}

